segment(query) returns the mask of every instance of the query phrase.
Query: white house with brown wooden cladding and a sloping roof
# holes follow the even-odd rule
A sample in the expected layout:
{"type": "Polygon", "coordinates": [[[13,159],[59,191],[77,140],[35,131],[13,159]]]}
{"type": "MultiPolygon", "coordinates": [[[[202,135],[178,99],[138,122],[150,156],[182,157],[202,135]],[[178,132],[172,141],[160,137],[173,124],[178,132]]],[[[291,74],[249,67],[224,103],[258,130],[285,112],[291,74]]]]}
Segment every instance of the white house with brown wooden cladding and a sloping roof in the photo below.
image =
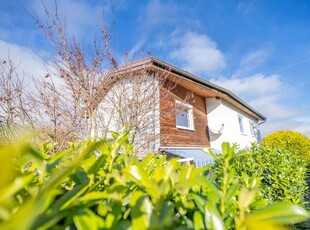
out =
{"type": "Polygon", "coordinates": [[[102,114],[96,121],[101,122],[99,133],[132,128],[141,157],[165,151],[205,164],[210,157],[204,148],[219,151],[224,141],[246,147],[260,139],[258,126],[266,120],[262,114],[231,91],[158,58],[110,75],[113,86],[97,108],[102,114]]]}

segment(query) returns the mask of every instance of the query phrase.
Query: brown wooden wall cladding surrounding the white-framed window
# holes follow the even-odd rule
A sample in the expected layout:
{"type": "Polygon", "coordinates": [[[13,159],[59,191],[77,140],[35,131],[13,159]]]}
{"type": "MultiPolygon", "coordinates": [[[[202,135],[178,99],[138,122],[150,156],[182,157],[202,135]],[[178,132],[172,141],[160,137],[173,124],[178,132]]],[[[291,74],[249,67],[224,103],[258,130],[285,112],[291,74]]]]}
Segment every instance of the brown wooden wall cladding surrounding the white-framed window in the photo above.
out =
{"type": "Polygon", "coordinates": [[[160,145],[161,147],[210,147],[208,121],[204,97],[177,85],[168,90],[160,89],[160,145]],[[176,127],[175,101],[193,106],[194,131],[176,127]]]}

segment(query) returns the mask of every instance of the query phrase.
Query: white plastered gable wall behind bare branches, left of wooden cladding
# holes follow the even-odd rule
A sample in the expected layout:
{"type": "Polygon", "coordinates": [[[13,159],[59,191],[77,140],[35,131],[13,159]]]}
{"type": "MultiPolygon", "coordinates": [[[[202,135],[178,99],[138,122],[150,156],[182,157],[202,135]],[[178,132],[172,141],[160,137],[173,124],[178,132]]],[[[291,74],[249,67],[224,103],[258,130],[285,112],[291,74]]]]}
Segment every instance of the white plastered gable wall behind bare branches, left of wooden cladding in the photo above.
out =
{"type": "Polygon", "coordinates": [[[142,153],[157,152],[160,144],[159,83],[153,75],[144,77],[143,82],[139,80],[138,87],[136,83],[135,77],[122,80],[107,93],[98,106],[96,122],[99,128],[94,136],[111,138],[111,133],[106,131],[120,132],[123,129],[122,124],[126,123],[121,121],[121,117],[126,119],[132,113],[132,119],[136,119],[137,125],[131,138],[135,153],[143,157],[142,153]],[[128,105],[132,98],[135,98],[137,103],[128,105]],[[123,114],[120,115],[121,113],[123,114]]]}

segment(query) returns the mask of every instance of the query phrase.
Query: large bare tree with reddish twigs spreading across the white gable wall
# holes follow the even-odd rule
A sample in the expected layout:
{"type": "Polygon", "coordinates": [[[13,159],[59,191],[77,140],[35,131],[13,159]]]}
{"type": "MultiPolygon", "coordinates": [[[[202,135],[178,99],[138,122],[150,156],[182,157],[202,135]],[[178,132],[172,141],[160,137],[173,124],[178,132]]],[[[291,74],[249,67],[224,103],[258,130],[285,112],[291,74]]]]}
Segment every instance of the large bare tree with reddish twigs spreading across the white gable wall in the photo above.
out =
{"type": "Polygon", "coordinates": [[[148,132],[156,125],[150,116],[159,116],[154,112],[159,106],[159,100],[155,100],[159,88],[165,84],[172,89],[176,84],[167,83],[169,70],[152,75],[147,65],[133,69],[133,59],[126,53],[124,66],[119,67],[109,46],[111,33],[107,26],[102,27],[93,46],[85,49],[68,35],[57,2],[53,13],[42,4],[45,18],[34,19],[57,53],[55,56],[51,51],[51,59],[46,61],[47,74],[37,81],[39,90],[32,99],[39,108],[38,123],[44,126],[46,136],[65,143],[107,136],[111,128],[119,131],[126,127],[131,130],[131,141],[150,143],[157,135],[148,132]],[[111,126],[111,122],[117,126],[111,126]]]}

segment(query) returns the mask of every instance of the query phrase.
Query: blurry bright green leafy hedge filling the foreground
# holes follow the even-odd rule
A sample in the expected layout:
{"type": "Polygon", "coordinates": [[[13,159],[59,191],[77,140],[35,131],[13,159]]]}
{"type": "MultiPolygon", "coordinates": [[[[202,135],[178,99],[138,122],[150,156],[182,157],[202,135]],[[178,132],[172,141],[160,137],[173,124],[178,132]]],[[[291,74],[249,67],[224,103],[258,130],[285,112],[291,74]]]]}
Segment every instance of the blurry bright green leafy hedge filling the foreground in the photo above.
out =
{"type": "Polygon", "coordinates": [[[0,148],[1,229],[266,229],[305,220],[301,207],[266,201],[254,176],[235,180],[234,147],[223,144],[222,180],[210,168],[165,156],[131,156],[128,133],[71,144],[51,155],[18,143],[0,148]],[[120,154],[120,152],[122,154],[120,154]]]}

